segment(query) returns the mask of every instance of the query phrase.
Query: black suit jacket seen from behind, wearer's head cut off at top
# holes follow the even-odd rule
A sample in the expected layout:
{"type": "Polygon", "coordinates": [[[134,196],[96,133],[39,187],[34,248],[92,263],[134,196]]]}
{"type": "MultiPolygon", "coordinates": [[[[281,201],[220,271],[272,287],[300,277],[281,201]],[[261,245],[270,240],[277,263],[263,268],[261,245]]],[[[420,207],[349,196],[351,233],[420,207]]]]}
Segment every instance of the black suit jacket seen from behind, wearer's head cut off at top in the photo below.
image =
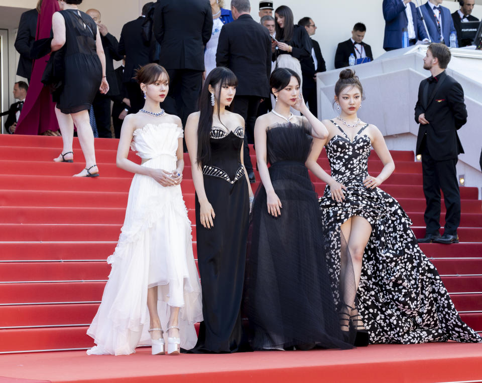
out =
{"type": "Polygon", "coordinates": [[[161,45],[159,64],[166,69],[204,70],[204,46],[211,38],[208,0],[158,0],[154,36],[161,45]]]}

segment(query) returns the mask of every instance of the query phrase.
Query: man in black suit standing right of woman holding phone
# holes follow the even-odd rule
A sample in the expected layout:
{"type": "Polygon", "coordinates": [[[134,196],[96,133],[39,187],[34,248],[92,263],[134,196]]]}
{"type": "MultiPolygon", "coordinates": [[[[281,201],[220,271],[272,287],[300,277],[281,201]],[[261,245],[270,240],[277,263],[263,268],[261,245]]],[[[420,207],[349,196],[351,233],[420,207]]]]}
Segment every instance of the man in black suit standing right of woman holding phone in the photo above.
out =
{"type": "MultiPolygon", "coordinates": [[[[309,17],[304,17],[298,22],[300,27],[305,27],[309,36],[316,32],[316,25],[309,17]]],[[[300,61],[303,74],[303,97],[308,102],[310,112],[318,116],[318,100],[316,97],[316,74],[326,71],[325,60],[321,55],[320,45],[311,39],[311,56],[300,61]]]]}

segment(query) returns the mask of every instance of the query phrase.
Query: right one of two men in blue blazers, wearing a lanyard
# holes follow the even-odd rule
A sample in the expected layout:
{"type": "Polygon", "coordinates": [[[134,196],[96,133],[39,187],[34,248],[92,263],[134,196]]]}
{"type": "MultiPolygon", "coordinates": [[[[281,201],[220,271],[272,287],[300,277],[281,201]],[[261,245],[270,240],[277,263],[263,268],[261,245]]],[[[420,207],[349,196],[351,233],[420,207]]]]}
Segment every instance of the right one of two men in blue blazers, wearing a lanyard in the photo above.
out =
{"type": "MultiPolygon", "coordinates": [[[[432,42],[450,46],[450,34],[453,32],[457,35],[457,31],[453,25],[450,10],[441,6],[442,1],[429,0],[420,8],[432,42]]],[[[458,47],[457,39],[455,39],[455,45],[458,47]]]]}

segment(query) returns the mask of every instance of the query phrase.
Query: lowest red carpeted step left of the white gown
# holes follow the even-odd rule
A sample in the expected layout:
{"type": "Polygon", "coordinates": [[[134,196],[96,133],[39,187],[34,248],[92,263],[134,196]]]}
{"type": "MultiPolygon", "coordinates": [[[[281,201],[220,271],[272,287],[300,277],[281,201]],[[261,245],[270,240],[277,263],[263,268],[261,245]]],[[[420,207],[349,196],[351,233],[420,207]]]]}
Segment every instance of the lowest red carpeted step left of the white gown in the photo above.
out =
{"type": "Polygon", "coordinates": [[[88,326],[22,328],[0,331],[0,352],[86,348],[94,345],[88,326]]]}

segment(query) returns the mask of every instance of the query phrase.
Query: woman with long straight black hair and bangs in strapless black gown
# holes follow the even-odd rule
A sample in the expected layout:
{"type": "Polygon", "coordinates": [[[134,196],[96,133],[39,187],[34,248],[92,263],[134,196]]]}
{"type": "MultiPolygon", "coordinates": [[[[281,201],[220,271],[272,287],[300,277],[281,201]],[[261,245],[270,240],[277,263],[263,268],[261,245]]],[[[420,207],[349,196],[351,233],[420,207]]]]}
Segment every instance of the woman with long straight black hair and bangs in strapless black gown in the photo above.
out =
{"type": "Polygon", "coordinates": [[[250,197],[243,163],[244,119],[225,109],[237,79],[224,67],[206,78],[200,111],[189,116],[185,139],[196,189],[197,258],[202,314],[194,353],[243,349],[240,307],[245,276],[250,197]]]}

